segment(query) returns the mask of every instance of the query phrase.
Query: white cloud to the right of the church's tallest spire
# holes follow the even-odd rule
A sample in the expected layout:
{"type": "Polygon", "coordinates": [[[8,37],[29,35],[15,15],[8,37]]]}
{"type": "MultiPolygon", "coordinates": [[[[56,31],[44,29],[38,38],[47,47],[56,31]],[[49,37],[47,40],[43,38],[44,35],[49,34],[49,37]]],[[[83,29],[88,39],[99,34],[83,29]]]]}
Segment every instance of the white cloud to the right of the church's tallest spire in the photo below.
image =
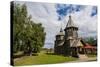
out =
{"type": "Polygon", "coordinates": [[[92,6],[73,14],[74,22],[79,26],[79,36],[96,36],[97,16],[91,17],[92,6]]]}

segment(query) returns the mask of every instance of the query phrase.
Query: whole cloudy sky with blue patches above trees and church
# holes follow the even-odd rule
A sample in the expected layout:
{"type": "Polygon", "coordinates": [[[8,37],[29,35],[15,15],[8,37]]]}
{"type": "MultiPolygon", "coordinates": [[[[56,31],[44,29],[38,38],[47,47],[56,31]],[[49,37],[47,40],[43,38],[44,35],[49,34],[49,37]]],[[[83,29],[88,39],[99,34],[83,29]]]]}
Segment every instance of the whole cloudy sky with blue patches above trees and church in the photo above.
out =
{"type": "Polygon", "coordinates": [[[78,26],[79,37],[97,36],[97,6],[61,3],[41,3],[16,1],[17,4],[26,4],[28,15],[36,23],[42,23],[45,28],[45,48],[53,48],[55,36],[60,28],[64,30],[69,15],[78,26]]]}

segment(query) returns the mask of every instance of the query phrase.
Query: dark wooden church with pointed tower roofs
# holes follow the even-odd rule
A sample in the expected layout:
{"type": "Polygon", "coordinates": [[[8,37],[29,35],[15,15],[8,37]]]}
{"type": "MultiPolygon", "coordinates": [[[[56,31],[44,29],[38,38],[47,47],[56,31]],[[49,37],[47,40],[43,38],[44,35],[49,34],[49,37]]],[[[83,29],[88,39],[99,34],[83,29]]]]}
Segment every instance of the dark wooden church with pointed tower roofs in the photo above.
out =
{"type": "Polygon", "coordinates": [[[84,42],[82,42],[81,38],[78,38],[78,27],[73,23],[71,16],[69,16],[64,32],[65,34],[61,28],[60,32],[56,35],[55,54],[74,57],[78,57],[80,53],[84,54],[85,51],[81,48],[84,46],[84,42]]]}

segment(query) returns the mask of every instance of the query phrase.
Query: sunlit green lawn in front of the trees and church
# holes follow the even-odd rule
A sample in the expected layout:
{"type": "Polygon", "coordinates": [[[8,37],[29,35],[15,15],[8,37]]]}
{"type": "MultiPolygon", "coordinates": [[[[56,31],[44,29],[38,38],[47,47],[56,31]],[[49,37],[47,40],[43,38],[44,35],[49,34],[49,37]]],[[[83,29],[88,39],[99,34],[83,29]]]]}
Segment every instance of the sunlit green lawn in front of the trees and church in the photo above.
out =
{"type": "Polygon", "coordinates": [[[77,58],[64,57],[59,55],[48,55],[41,52],[38,56],[24,56],[14,61],[15,66],[19,65],[37,65],[37,64],[54,64],[76,60],[77,58]]]}

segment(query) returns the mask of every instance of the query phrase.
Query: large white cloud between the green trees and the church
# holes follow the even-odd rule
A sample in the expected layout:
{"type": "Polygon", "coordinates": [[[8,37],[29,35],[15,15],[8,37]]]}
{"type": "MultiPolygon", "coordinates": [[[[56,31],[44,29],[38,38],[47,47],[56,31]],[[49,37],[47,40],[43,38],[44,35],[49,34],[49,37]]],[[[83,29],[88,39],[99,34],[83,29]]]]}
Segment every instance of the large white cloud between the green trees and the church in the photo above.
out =
{"type": "Polygon", "coordinates": [[[26,3],[28,12],[35,22],[41,22],[46,31],[46,43],[53,43],[55,35],[59,32],[61,22],[58,21],[55,4],[26,3]]]}

